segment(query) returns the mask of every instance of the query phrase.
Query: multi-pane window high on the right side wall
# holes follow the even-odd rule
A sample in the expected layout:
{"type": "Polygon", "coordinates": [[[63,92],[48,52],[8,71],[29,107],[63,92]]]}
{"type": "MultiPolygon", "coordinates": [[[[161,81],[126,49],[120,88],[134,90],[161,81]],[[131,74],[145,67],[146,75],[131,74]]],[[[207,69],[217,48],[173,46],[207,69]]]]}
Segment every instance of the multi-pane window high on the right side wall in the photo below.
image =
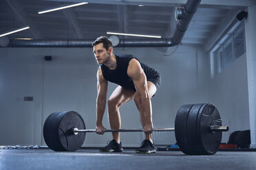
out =
{"type": "Polygon", "coordinates": [[[214,52],[215,74],[226,69],[234,60],[245,53],[244,23],[229,34],[214,52]]]}

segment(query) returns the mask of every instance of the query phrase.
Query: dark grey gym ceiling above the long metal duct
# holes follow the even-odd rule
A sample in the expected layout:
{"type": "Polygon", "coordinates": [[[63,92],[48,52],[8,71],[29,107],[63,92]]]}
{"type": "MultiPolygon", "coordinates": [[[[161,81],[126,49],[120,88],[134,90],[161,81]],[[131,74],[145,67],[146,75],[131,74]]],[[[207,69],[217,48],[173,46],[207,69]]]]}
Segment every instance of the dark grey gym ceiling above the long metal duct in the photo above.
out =
{"type": "MultiPolygon", "coordinates": [[[[86,5],[37,13],[76,2],[81,0],[1,0],[0,33],[29,25],[30,29],[10,34],[8,38],[96,38],[107,35],[106,32],[171,38],[177,23],[175,7],[186,3],[183,0],[89,0],[86,5]]],[[[224,19],[233,18],[251,3],[251,0],[202,0],[182,43],[206,43],[224,19]]]]}

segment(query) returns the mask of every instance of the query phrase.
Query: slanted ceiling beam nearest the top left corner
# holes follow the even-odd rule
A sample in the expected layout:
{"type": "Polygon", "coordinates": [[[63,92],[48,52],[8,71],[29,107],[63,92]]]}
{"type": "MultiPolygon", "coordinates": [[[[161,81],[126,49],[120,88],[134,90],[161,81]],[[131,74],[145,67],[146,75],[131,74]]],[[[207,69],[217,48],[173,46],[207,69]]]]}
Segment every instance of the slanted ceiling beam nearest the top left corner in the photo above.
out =
{"type": "Polygon", "coordinates": [[[34,26],[34,24],[32,23],[32,21],[30,21],[30,19],[28,19],[28,17],[25,16],[25,12],[23,12],[23,10],[19,7],[18,1],[15,1],[15,0],[6,0],[6,3],[8,3],[8,5],[10,6],[10,8],[12,8],[12,11],[14,12],[14,14],[17,16],[17,18],[18,18],[19,20],[21,20],[21,22],[22,22],[24,25],[29,25],[29,26],[30,26],[30,32],[32,33],[32,35],[34,36],[34,38],[40,38],[39,32],[36,31],[36,27],[34,26]]]}

